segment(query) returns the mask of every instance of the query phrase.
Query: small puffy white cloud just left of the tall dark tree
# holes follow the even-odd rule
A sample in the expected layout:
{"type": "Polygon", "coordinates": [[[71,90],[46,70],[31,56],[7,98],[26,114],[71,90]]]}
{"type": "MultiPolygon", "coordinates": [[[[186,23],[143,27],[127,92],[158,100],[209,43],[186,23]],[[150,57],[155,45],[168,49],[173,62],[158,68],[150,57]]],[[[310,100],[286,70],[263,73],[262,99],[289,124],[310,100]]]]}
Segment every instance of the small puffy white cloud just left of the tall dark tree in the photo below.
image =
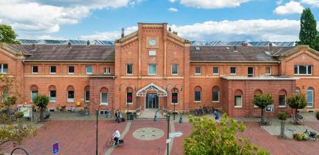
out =
{"type": "Polygon", "coordinates": [[[285,3],[283,6],[278,6],[274,9],[274,13],[277,15],[289,15],[293,13],[302,13],[304,7],[299,2],[296,1],[289,1],[285,3]]]}

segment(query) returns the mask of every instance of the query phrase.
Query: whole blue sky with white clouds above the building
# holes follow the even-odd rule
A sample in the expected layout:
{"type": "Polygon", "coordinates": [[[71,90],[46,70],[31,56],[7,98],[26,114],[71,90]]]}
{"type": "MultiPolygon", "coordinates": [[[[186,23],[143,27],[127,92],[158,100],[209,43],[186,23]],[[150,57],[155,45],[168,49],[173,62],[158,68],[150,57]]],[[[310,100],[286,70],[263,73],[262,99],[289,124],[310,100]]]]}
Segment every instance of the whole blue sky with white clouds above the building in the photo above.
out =
{"type": "Polygon", "coordinates": [[[319,0],[0,0],[0,24],[24,39],[115,40],[166,22],[188,40],[295,41],[304,8],[319,21],[319,0]]]}

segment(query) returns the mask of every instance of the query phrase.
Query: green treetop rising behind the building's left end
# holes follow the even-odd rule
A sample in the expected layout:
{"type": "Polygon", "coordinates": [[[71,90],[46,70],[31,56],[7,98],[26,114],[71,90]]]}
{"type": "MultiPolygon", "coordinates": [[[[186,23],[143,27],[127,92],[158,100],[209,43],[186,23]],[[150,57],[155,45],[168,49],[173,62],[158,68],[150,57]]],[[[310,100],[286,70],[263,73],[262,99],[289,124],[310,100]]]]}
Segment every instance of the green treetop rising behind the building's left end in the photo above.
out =
{"type": "Polygon", "coordinates": [[[17,38],[17,34],[12,27],[0,24],[0,43],[20,44],[20,41],[15,40],[15,38],[17,38]]]}

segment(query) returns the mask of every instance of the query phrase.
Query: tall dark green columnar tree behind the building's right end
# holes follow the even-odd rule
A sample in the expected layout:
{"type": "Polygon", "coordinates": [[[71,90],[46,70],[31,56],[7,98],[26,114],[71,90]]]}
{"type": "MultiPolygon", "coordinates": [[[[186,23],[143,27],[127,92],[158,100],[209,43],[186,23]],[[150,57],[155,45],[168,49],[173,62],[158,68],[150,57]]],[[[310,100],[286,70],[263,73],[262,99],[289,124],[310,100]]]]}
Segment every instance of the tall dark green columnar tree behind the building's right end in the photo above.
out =
{"type": "MultiPolygon", "coordinates": [[[[310,45],[311,48],[318,47],[317,22],[310,8],[302,10],[300,17],[299,45],[310,45]]],[[[318,49],[316,49],[318,50],[318,49]]]]}

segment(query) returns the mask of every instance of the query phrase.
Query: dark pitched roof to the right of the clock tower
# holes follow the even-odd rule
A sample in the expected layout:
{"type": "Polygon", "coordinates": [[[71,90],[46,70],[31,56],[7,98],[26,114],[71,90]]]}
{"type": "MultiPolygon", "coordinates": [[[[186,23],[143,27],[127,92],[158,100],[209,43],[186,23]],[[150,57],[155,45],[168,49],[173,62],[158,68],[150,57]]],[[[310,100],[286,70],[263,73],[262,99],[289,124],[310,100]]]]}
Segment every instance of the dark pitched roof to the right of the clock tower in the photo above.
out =
{"type": "Polygon", "coordinates": [[[233,62],[278,62],[277,57],[272,54],[286,52],[294,47],[272,47],[273,51],[269,52],[269,47],[234,47],[230,46],[198,46],[190,47],[190,61],[233,61],[233,62]]]}

